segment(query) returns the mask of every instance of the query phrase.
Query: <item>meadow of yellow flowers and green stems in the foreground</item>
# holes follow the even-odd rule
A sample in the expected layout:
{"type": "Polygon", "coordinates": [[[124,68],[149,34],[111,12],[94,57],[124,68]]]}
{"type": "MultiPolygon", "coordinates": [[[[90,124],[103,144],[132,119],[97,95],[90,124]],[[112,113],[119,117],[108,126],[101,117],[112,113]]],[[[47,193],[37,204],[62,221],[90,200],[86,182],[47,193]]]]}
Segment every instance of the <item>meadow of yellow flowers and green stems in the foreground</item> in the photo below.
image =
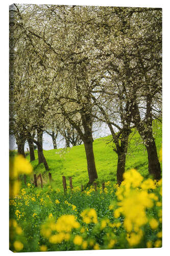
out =
{"type": "Polygon", "coordinates": [[[10,250],[62,251],[150,248],[162,245],[162,181],[144,179],[136,169],[118,186],[110,181],[63,193],[18,177],[32,175],[21,156],[10,162],[10,250]]]}

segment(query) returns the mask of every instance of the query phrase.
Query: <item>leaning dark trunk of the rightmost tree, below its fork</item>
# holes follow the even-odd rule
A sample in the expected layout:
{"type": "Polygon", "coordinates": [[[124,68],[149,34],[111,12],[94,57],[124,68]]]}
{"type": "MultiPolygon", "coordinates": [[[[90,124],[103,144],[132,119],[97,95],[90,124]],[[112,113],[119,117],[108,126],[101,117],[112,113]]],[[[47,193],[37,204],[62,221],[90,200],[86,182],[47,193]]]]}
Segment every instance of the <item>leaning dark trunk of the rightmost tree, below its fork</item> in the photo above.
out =
{"type": "Polygon", "coordinates": [[[148,142],[145,145],[148,152],[148,170],[155,180],[161,179],[161,167],[158,159],[158,154],[156,150],[155,140],[148,142]]]}

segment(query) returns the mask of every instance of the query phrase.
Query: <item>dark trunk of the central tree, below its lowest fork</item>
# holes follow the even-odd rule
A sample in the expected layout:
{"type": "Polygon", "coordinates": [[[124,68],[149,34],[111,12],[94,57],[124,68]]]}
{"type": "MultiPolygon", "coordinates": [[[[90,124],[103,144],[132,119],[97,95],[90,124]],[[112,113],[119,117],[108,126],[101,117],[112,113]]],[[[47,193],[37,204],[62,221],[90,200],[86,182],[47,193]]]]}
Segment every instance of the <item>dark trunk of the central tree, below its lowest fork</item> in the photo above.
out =
{"type": "Polygon", "coordinates": [[[84,142],[87,159],[87,169],[89,176],[89,184],[92,184],[95,179],[98,178],[98,174],[95,168],[94,153],[93,153],[93,142],[84,142]]]}

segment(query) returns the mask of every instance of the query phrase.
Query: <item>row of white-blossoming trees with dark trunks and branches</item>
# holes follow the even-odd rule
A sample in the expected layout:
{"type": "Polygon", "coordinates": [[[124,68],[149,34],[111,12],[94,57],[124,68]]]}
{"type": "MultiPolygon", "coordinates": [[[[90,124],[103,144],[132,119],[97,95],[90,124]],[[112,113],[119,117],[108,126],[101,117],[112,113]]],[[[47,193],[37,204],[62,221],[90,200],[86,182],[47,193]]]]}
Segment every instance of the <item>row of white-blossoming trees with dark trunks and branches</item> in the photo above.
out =
{"type": "Polygon", "coordinates": [[[162,110],[161,32],[158,8],[12,5],[10,132],[19,153],[26,139],[35,143],[48,169],[42,133],[60,132],[73,145],[84,143],[92,183],[98,178],[92,132],[106,123],[120,184],[136,127],[149,173],[160,179],[152,123],[162,110]]]}

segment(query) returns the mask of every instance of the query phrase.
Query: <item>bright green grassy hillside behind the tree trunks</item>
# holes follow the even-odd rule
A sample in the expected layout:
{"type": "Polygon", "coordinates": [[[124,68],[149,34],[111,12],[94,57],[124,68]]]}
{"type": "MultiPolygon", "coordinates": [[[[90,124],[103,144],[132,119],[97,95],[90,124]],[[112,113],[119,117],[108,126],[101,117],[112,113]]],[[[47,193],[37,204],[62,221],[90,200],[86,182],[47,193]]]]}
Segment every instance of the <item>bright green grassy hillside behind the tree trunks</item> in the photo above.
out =
{"type": "MultiPolygon", "coordinates": [[[[154,122],[154,136],[158,150],[162,144],[162,126],[157,121],[154,122]]],[[[109,141],[111,136],[95,139],[93,143],[96,170],[98,172],[98,182],[108,180],[116,182],[117,155],[113,151],[113,143],[109,141]]],[[[62,188],[62,176],[66,176],[67,185],[69,177],[72,176],[73,186],[81,186],[88,182],[87,163],[84,145],[74,146],[66,149],[44,151],[44,156],[50,167],[53,185],[62,188]]],[[[43,164],[38,165],[37,151],[36,160],[32,162],[34,173],[43,174],[44,183],[48,183],[48,173],[45,173],[43,164]]],[[[29,159],[29,156],[28,156],[29,159]]],[[[130,135],[130,144],[126,161],[126,170],[136,168],[144,177],[148,177],[148,156],[143,146],[139,134],[133,130],[130,135]]]]}

